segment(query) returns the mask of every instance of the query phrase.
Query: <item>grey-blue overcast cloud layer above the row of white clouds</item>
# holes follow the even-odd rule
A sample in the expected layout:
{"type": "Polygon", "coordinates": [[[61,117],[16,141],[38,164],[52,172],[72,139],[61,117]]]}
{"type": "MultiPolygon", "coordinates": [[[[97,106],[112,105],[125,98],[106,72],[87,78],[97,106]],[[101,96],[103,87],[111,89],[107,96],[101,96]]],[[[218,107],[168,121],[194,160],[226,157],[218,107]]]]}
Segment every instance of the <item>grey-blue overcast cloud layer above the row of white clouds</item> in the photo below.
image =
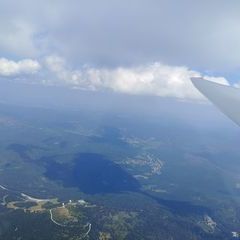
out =
{"type": "Polygon", "coordinates": [[[239,69],[239,8],[238,0],[3,0],[0,52],[11,59],[59,54],[74,66],[162,62],[221,74],[239,69]]]}

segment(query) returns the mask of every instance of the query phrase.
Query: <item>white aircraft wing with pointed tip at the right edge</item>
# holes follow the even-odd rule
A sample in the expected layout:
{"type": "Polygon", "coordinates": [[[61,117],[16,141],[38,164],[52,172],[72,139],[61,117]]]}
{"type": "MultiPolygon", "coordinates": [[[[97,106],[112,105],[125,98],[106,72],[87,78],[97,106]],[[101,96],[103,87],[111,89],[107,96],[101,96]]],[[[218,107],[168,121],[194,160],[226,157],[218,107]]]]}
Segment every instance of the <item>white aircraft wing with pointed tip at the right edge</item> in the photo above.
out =
{"type": "Polygon", "coordinates": [[[193,85],[224,114],[240,126],[240,89],[191,78],[193,85]]]}

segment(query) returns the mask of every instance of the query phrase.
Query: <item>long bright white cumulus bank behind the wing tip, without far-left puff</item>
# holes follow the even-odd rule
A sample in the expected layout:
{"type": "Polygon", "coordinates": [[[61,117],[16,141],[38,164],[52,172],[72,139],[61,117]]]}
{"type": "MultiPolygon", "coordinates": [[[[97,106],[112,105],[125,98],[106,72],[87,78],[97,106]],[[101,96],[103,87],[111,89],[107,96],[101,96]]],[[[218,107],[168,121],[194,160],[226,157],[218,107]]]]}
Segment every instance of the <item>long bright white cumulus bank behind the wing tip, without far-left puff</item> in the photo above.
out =
{"type": "MultiPolygon", "coordinates": [[[[110,90],[127,94],[156,95],[182,99],[202,99],[190,78],[202,76],[184,66],[169,66],[159,62],[137,67],[92,68],[71,70],[59,56],[48,56],[45,64],[62,84],[85,90],[110,90]]],[[[223,77],[203,76],[205,79],[229,85],[223,77]]],[[[53,83],[53,81],[50,81],[53,83]]]]}

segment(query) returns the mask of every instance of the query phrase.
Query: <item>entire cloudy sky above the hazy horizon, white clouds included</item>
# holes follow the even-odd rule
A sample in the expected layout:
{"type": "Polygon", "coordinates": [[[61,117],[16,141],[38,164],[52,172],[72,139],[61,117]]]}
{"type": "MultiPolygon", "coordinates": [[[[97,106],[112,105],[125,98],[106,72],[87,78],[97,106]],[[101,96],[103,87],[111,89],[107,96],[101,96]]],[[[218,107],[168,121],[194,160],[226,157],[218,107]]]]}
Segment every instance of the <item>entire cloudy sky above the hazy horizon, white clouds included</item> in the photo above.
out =
{"type": "Polygon", "coordinates": [[[240,79],[239,10],[237,0],[3,0],[0,78],[202,99],[190,77],[240,79]]]}

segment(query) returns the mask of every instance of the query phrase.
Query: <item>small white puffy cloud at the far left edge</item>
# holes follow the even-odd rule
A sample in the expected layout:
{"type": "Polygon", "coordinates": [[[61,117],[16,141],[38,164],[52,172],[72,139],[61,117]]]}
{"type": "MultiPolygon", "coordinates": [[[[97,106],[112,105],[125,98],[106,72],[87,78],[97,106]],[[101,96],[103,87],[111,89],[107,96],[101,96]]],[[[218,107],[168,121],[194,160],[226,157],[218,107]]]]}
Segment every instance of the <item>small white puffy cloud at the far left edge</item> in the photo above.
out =
{"type": "Polygon", "coordinates": [[[21,61],[12,61],[6,58],[0,58],[0,76],[18,76],[25,74],[34,74],[40,70],[38,61],[24,59],[21,61]]]}

